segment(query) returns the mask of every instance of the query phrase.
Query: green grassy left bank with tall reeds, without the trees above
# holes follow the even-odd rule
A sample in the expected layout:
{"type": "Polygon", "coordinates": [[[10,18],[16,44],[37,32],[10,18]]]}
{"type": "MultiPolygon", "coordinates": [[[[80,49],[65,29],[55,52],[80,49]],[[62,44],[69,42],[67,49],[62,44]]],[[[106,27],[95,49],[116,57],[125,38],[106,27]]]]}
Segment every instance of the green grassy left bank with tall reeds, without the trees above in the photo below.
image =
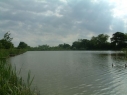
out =
{"type": "Polygon", "coordinates": [[[19,54],[23,51],[0,51],[0,95],[39,95],[35,90],[31,90],[31,83],[34,78],[28,77],[26,82],[22,77],[18,76],[20,71],[17,73],[16,68],[12,67],[6,60],[10,54],[19,54]],[[13,52],[13,53],[12,53],[13,52]]]}

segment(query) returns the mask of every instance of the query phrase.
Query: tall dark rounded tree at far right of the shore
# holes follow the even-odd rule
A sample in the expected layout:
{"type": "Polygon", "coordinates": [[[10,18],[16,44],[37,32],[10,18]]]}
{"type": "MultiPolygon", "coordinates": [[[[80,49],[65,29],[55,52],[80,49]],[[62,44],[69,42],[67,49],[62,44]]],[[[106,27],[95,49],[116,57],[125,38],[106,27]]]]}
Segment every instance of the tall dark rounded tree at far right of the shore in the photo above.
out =
{"type": "Polygon", "coordinates": [[[111,40],[111,47],[112,49],[122,49],[127,46],[127,36],[122,32],[116,32],[112,35],[111,40]]]}

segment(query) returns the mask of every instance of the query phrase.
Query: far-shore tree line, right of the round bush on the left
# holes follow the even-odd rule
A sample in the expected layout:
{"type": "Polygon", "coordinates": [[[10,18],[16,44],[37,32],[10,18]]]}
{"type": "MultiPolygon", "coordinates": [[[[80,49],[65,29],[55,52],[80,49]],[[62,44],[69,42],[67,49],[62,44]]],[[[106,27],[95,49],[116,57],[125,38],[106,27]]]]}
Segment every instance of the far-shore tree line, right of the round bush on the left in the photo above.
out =
{"type": "Polygon", "coordinates": [[[49,45],[39,45],[31,47],[30,50],[121,50],[127,47],[127,34],[116,32],[112,34],[110,42],[107,34],[99,34],[98,36],[88,39],[78,39],[72,45],[67,43],[59,44],[58,46],[50,47],[49,45]]]}

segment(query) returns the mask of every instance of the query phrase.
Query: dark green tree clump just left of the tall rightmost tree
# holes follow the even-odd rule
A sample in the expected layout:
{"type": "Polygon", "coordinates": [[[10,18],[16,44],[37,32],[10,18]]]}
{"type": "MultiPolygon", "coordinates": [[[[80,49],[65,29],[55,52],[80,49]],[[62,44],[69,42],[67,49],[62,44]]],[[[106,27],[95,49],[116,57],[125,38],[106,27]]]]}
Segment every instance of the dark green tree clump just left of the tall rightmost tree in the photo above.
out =
{"type": "Polygon", "coordinates": [[[79,39],[73,42],[72,49],[76,50],[107,50],[109,36],[106,34],[99,34],[97,37],[93,36],[91,40],[79,39]]]}

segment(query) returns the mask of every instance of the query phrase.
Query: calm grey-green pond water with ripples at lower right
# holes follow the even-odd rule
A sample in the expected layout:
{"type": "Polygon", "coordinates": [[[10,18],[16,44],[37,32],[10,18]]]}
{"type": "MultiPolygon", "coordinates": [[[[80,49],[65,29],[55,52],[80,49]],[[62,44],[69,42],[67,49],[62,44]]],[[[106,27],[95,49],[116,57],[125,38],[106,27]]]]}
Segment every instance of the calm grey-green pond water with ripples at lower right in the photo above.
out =
{"type": "Polygon", "coordinates": [[[10,58],[41,95],[127,95],[127,60],[112,51],[33,51],[10,58]],[[112,63],[115,65],[112,67],[112,63]]]}

